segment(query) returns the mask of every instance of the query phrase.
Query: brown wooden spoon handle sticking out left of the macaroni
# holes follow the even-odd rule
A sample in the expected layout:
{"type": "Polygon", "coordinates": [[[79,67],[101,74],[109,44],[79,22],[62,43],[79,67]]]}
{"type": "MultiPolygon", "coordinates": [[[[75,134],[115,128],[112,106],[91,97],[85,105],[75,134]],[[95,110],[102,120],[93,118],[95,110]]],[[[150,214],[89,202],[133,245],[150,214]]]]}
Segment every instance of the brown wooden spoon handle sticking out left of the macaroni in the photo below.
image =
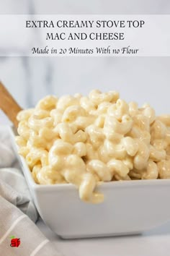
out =
{"type": "Polygon", "coordinates": [[[18,121],[17,121],[17,114],[22,108],[18,105],[18,103],[14,100],[12,95],[9,93],[8,90],[4,87],[2,82],[0,81],[0,108],[6,116],[12,121],[14,126],[17,128],[18,121]]]}

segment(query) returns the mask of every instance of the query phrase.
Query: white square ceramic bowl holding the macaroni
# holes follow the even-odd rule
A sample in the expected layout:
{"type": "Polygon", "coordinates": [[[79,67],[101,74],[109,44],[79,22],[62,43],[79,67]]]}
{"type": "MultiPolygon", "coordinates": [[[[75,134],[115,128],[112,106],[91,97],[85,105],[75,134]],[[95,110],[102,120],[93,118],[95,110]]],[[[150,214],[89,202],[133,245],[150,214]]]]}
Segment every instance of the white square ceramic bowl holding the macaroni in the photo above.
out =
{"type": "Polygon", "coordinates": [[[82,202],[72,184],[36,184],[19,160],[42,220],[64,239],[140,234],[170,220],[169,179],[100,184],[104,202],[93,205],[82,202]]]}

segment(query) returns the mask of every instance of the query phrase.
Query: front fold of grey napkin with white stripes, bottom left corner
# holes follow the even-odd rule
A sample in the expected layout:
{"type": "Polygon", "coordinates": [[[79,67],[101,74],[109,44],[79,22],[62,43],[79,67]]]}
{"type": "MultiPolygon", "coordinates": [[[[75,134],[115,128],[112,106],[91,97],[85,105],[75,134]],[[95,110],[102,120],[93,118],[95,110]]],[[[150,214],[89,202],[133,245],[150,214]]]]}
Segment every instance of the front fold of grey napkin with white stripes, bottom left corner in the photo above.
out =
{"type": "Polygon", "coordinates": [[[0,249],[3,252],[3,256],[61,255],[35,226],[35,223],[12,203],[0,196],[0,205],[0,249]],[[10,236],[20,239],[21,244],[19,247],[10,246],[10,236]]]}

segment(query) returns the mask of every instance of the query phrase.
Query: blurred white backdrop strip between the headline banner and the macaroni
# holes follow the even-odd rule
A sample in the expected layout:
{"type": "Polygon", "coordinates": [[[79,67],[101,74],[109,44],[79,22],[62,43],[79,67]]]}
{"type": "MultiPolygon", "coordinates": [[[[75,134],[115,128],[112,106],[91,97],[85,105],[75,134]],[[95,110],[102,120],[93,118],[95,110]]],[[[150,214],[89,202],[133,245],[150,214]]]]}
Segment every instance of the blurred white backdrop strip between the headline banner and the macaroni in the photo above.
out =
{"type": "Polygon", "coordinates": [[[47,94],[118,90],[126,101],[170,112],[169,57],[61,57],[0,59],[0,78],[25,108],[47,94]]]}

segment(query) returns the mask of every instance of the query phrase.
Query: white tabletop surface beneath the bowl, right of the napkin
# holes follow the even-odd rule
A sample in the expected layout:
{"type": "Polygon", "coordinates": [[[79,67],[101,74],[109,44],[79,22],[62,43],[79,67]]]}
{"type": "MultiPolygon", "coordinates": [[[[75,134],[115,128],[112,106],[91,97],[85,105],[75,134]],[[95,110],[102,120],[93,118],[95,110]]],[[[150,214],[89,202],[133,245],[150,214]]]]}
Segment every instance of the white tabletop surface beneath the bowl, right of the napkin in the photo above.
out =
{"type": "Polygon", "coordinates": [[[170,221],[157,229],[138,236],[116,236],[93,239],[60,239],[45,226],[42,220],[38,228],[58,251],[65,256],[169,256],[170,221]]]}

